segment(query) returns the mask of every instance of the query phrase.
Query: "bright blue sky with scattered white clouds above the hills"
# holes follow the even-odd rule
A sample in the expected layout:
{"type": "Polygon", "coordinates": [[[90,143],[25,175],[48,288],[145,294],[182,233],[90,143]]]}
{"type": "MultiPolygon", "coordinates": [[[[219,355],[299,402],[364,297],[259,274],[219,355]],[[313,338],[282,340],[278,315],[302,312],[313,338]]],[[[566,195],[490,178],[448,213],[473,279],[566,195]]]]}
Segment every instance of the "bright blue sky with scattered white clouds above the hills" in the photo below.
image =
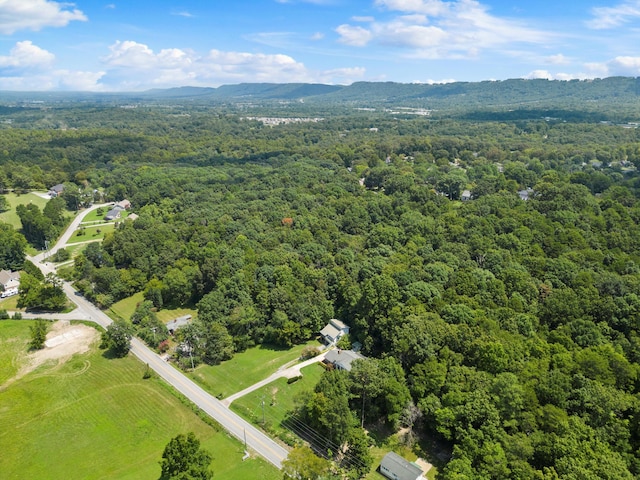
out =
{"type": "Polygon", "coordinates": [[[0,0],[0,90],[640,76],[640,0],[0,0]]]}

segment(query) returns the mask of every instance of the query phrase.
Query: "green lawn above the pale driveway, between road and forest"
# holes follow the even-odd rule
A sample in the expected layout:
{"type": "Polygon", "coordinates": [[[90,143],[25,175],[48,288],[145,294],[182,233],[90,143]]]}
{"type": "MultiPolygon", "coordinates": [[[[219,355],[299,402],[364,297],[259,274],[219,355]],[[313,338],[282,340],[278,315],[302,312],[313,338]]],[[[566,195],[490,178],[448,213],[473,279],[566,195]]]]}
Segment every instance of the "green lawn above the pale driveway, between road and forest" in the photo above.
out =
{"type": "Polygon", "coordinates": [[[307,345],[317,346],[318,342],[313,340],[290,349],[256,346],[236,353],[231,360],[220,365],[200,365],[189,375],[212,395],[225,398],[264,380],[282,365],[300,358],[302,349],[307,345]]]}

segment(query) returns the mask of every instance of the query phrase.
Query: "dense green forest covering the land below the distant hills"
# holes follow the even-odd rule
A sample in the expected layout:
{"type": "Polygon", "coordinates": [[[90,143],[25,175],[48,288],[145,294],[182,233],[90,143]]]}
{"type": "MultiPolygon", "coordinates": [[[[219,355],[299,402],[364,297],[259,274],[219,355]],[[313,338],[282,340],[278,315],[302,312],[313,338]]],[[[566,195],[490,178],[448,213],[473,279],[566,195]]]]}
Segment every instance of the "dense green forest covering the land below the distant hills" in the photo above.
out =
{"type": "Polygon", "coordinates": [[[67,275],[103,307],[144,292],[141,336],[154,308],[196,306],[189,353],[216,363],[339,318],[372,361],[328,372],[298,414],[354,455],[354,425],[416,411],[451,452],[439,478],[640,475],[637,129],[344,107],[275,126],[195,105],[11,112],[0,188],[131,201],[139,218],[67,275]]]}

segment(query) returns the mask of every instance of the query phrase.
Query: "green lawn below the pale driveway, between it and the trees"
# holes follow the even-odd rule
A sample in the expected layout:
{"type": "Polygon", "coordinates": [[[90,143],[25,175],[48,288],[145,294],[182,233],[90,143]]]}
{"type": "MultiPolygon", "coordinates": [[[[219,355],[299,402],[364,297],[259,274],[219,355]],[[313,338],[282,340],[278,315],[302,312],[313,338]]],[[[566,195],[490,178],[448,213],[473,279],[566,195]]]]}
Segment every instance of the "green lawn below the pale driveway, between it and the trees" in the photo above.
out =
{"type": "Polygon", "coordinates": [[[276,435],[284,433],[286,429],[281,426],[281,423],[287,412],[294,409],[298,396],[315,388],[323,372],[322,365],[309,365],[302,369],[302,378],[296,382],[287,383],[286,378],[278,378],[235,400],[231,404],[231,410],[247,421],[260,425],[264,400],[264,418],[268,430],[276,435]]]}

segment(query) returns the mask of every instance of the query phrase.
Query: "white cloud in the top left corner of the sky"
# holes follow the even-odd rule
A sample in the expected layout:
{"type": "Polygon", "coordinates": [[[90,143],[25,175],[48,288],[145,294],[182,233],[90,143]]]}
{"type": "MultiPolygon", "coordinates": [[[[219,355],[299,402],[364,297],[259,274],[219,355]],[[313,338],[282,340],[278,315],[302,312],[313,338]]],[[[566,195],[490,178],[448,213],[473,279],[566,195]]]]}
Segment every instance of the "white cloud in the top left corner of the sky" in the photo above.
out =
{"type": "Polygon", "coordinates": [[[70,3],[49,0],[0,1],[0,33],[4,35],[19,30],[64,27],[74,20],[86,21],[87,17],[70,3]]]}

